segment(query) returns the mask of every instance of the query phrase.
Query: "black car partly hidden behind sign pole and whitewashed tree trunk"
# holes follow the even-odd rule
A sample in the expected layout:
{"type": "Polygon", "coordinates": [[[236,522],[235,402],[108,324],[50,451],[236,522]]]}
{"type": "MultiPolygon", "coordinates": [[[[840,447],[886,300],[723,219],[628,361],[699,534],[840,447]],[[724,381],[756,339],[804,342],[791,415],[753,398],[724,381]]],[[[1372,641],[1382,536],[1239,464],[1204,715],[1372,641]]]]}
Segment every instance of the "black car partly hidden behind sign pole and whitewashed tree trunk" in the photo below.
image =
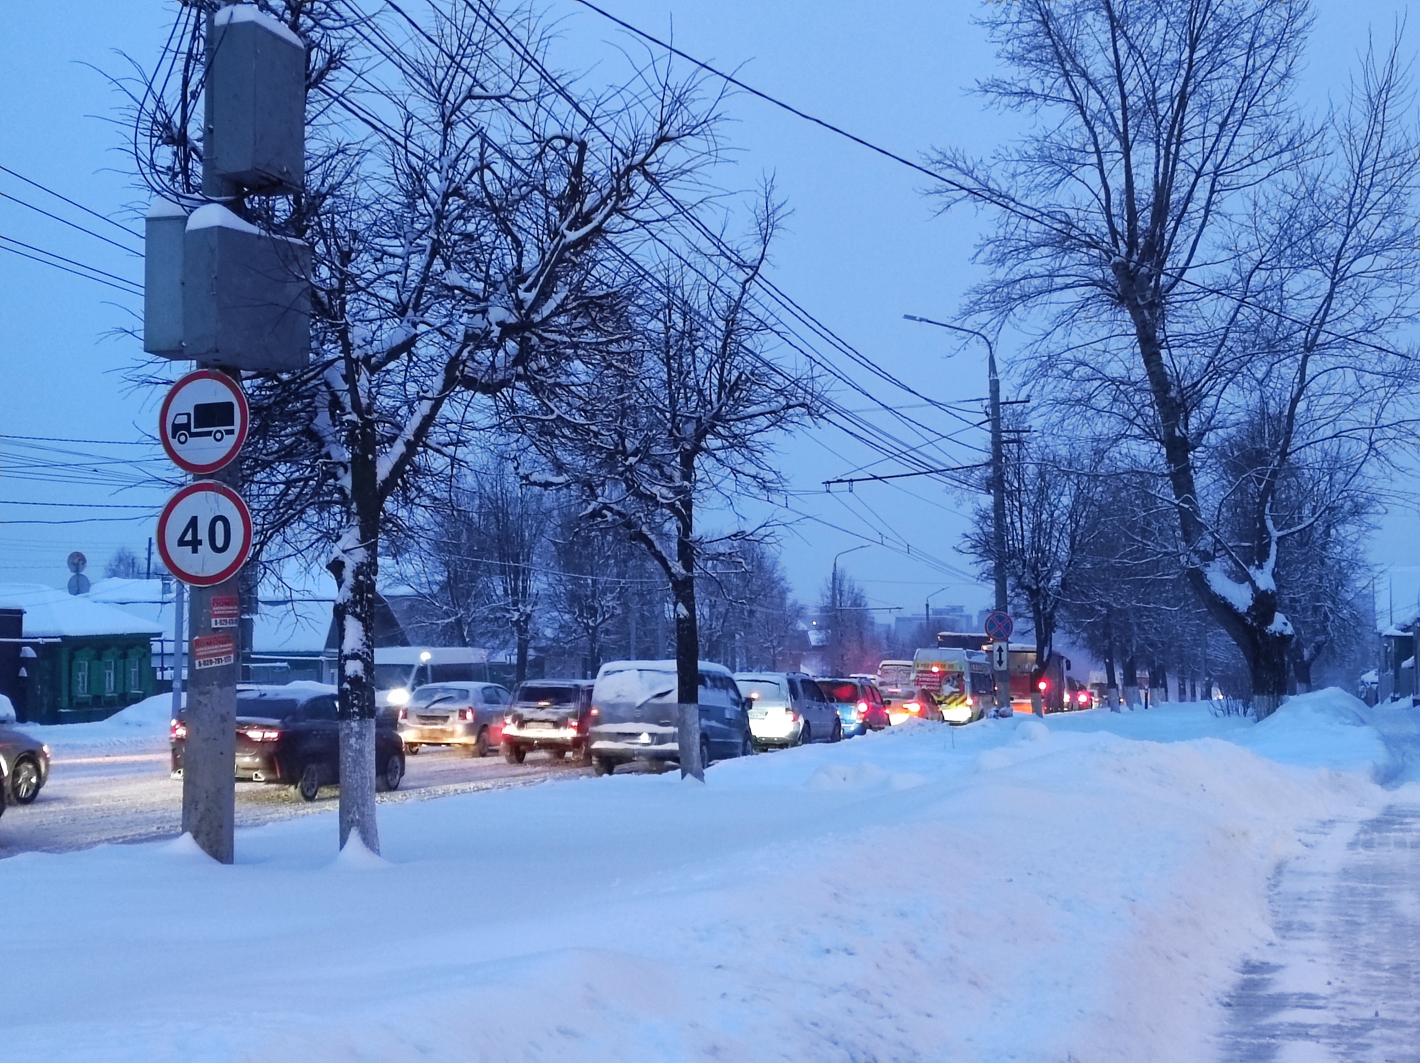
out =
{"type": "MultiPolygon", "coordinates": [[[[182,776],[187,725],[172,722],[173,776],[182,776]]],[[[335,688],[317,684],[237,688],[237,779],[294,786],[308,802],[341,779],[341,725],[335,688]]],[[[405,777],[405,743],[395,718],[383,712],[375,722],[375,772],[382,790],[399,789],[405,777]]]]}

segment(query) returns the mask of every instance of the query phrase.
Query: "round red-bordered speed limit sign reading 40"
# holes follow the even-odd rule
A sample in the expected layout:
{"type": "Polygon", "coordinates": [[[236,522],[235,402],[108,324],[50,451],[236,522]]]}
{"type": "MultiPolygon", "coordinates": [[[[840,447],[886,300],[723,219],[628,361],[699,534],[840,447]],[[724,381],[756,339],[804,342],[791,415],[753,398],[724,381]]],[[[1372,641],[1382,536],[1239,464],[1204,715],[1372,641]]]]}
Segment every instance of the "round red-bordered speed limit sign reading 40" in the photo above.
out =
{"type": "Polygon", "coordinates": [[[189,483],[158,517],[158,553],[168,571],[193,587],[230,580],[251,553],[247,503],[224,483],[189,483]]]}

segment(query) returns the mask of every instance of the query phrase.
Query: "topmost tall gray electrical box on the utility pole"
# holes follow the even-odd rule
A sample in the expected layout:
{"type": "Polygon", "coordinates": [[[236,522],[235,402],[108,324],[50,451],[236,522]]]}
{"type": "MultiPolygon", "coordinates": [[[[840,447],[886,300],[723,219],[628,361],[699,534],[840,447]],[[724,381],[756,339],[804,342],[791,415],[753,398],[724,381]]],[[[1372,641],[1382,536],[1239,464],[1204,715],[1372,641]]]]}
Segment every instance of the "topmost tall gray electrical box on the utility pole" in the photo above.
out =
{"type": "Polygon", "coordinates": [[[305,172],[305,45],[253,4],[207,21],[202,190],[298,192],[305,172]]]}

